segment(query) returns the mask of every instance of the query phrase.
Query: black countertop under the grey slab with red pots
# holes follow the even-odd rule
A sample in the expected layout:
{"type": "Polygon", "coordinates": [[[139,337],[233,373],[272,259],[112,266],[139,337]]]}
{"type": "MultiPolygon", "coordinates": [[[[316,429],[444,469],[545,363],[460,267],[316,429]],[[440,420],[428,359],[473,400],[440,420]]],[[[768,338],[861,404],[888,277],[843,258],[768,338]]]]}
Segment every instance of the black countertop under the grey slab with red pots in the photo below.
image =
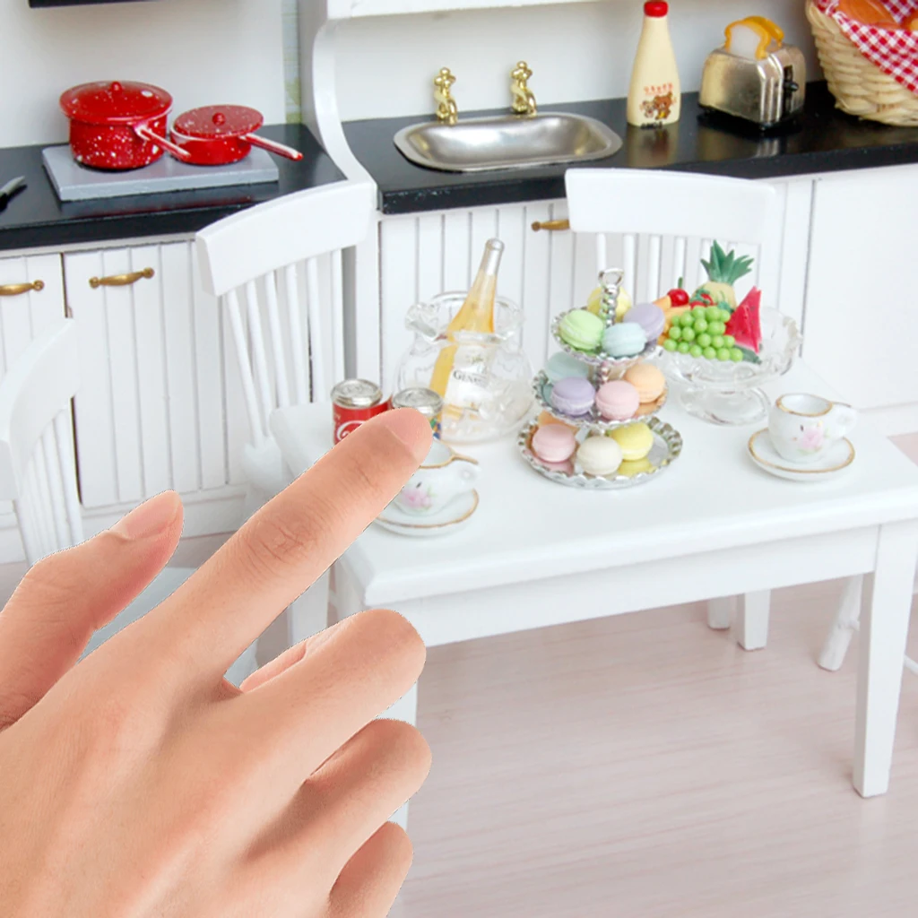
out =
{"type": "Polygon", "coordinates": [[[302,125],[271,125],[260,132],[303,152],[299,162],[274,158],[277,182],[95,201],[58,200],[41,164],[48,144],[0,149],[0,185],[14,175],[28,181],[28,188],[0,209],[0,250],[194,233],[243,207],[344,178],[302,125]]]}

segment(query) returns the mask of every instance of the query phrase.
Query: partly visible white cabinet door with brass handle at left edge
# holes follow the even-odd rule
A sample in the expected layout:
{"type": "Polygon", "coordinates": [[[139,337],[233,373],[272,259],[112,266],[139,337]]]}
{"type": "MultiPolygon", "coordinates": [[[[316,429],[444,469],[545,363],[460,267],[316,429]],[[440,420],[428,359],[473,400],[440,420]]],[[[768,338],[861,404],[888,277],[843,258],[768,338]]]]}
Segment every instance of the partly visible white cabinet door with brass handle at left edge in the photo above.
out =
{"type": "Polygon", "coordinates": [[[0,375],[63,315],[60,255],[0,258],[0,375]]]}

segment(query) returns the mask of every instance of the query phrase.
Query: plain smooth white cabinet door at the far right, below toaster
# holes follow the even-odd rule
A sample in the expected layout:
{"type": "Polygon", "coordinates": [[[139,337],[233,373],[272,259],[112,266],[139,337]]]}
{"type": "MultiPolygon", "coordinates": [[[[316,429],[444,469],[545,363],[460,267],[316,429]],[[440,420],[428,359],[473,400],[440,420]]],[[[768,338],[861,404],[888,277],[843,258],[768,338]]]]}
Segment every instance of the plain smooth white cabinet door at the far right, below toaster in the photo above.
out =
{"type": "Polygon", "coordinates": [[[803,356],[860,409],[918,402],[910,354],[916,212],[915,167],[816,183],[803,356]]]}

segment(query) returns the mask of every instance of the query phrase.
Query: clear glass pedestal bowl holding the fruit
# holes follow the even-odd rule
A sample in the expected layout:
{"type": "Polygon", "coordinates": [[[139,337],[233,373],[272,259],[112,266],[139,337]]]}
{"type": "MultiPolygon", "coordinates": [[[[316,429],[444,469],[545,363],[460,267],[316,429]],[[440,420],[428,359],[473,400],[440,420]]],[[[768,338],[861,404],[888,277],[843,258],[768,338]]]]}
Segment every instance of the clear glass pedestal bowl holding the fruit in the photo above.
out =
{"type": "Polygon", "coordinates": [[[689,414],[714,424],[764,420],[770,402],[760,386],[788,372],[803,339],[797,323],[777,309],[761,308],[759,363],[708,360],[662,351],[660,369],[679,384],[679,400],[689,414]]]}

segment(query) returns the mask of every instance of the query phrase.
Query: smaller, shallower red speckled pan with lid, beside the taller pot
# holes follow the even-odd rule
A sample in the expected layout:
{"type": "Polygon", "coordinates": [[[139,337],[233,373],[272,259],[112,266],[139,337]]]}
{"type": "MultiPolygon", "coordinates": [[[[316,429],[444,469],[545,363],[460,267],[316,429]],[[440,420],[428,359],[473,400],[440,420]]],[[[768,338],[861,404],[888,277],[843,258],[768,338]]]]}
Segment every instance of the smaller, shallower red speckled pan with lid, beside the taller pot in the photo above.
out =
{"type": "Polygon", "coordinates": [[[247,106],[205,106],[175,118],[170,136],[188,154],[185,162],[201,166],[239,162],[253,146],[290,160],[303,158],[300,151],[254,133],[263,122],[262,113],[247,106]]]}

